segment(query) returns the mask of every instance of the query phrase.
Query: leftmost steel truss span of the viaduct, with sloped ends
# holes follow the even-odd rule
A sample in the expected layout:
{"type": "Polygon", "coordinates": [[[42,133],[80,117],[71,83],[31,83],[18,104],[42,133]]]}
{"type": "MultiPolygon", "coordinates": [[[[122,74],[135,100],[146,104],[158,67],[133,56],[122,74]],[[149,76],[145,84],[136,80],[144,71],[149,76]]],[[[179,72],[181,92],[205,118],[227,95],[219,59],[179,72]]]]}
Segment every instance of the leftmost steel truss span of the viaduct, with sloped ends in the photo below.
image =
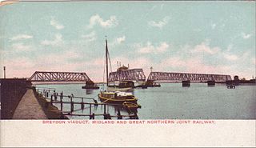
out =
{"type": "Polygon", "coordinates": [[[31,82],[91,82],[86,73],[36,71],[31,82]]]}

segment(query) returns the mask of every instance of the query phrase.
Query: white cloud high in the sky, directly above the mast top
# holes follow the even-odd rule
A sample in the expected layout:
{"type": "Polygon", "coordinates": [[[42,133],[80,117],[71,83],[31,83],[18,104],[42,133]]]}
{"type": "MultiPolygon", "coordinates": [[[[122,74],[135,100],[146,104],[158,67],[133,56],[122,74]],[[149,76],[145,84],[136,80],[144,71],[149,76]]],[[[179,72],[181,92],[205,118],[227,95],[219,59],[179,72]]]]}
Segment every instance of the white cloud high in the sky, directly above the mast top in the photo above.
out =
{"type": "Polygon", "coordinates": [[[93,28],[95,25],[100,25],[103,28],[111,28],[114,26],[118,26],[118,20],[116,16],[110,16],[110,19],[107,19],[106,21],[103,20],[98,14],[95,14],[90,17],[88,28],[93,28]]]}

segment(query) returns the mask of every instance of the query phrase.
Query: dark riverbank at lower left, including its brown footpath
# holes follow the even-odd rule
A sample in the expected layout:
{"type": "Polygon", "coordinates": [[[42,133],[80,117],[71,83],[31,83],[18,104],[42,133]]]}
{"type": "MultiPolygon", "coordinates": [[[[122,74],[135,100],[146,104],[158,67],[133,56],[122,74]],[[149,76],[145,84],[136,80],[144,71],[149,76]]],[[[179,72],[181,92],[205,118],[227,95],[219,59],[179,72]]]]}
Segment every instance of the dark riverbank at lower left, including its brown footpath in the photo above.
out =
{"type": "Polygon", "coordinates": [[[68,119],[26,78],[0,79],[1,119],[68,119]]]}

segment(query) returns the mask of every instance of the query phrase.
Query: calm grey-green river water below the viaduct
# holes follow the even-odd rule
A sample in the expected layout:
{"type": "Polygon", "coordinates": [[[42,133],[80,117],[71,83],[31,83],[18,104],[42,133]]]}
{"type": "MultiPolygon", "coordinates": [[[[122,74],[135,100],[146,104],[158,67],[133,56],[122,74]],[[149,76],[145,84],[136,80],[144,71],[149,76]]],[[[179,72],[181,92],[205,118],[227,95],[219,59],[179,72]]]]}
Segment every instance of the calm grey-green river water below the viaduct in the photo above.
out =
{"type": "MultiPolygon", "coordinates": [[[[83,90],[82,84],[37,86],[55,88],[57,92],[63,91],[66,95],[74,94],[74,96],[96,99],[100,91],[83,90]]],[[[161,87],[134,89],[134,95],[138,98],[138,104],[142,106],[138,109],[139,119],[256,118],[256,86],[236,86],[235,89],[227,89],[226,85],[221,84],[208,87],[205,83],[191,83],[190,87],[182,87],[181,83],[165,83],[161,87]]],[[[69,107],[66,105],[64,109],[70,110],[69,107]]],[[[80,106],[75,106],[74,110],[76,109],[80,109],[80,106]]],[[[102,114],[102,110],[102,106],[93,108],[95,114],[102,114]]],[[[107,111],[111,115],[117,114],[113,106],[109,106],[107,111]]],[[[88,108],[75,112],[75,114],[88,113],[88,108]]],[[[126,111],[122,110],[122,114],[126,114],[126,111]]],[[[70,118],[87,119],[87,117],[70,118]]]]}

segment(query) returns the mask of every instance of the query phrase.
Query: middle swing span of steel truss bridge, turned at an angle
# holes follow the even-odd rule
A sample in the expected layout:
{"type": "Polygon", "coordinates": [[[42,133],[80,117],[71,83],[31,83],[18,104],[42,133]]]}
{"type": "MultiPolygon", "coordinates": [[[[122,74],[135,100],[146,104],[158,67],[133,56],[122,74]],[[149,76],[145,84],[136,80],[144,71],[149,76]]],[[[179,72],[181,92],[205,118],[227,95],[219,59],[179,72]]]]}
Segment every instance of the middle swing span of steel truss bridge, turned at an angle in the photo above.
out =
{"type": "Polygon", "coordinates": [[[109,82],[121,82],[125,80],[145,82],[146,76],[142,69],[118,70],[116,72],[111,72],[109,75],[109,82]]]}

